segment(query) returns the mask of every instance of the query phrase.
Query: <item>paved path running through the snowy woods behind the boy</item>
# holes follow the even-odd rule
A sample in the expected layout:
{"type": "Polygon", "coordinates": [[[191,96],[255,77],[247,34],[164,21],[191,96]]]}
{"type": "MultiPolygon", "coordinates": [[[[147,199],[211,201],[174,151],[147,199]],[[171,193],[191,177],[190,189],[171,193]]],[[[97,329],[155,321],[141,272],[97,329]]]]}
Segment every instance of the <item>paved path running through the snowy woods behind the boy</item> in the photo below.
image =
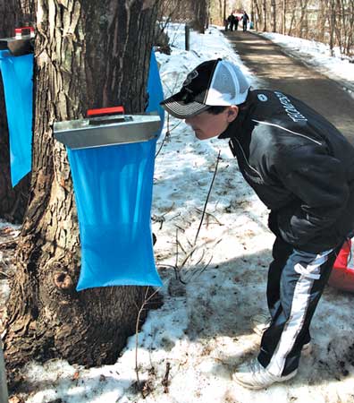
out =
{"type": "Polygon", "coordinates": [[[269,39],[243,31],[224,32],[262,87],[282,90],[305,101],[332,122],[354,144],[354,99],[339,83],[285,55],[269,39]]]}

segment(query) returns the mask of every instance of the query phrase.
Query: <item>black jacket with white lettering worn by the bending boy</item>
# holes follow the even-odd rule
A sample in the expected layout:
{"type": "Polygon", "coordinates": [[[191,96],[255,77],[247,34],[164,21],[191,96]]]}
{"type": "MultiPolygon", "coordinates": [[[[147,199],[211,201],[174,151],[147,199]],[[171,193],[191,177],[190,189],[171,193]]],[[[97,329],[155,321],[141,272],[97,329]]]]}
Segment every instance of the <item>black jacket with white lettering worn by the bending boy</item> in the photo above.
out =
{"type": "Polygon", "coordinates": [[[250,91],[230,138],[240,172],[271,210],[269,227],[317,253],[354,228],[354,148],[323,116],[280,91],[250,91]]]}

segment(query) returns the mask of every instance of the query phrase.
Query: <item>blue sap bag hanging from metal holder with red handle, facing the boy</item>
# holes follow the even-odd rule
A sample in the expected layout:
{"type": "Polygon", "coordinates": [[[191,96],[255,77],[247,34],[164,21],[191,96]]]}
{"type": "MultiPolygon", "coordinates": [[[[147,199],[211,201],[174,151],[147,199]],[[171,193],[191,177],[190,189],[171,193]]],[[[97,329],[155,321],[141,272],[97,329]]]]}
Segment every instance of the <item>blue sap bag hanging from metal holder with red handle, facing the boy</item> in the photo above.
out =
{"type": "Polygon", "coordinates": [[[54,124],[55,139],[67,147],[78,210],[78,291],[162,285],[150,222],[160,117],[117,115],[122,111],[91,110],[85,119],[54,124]]]}

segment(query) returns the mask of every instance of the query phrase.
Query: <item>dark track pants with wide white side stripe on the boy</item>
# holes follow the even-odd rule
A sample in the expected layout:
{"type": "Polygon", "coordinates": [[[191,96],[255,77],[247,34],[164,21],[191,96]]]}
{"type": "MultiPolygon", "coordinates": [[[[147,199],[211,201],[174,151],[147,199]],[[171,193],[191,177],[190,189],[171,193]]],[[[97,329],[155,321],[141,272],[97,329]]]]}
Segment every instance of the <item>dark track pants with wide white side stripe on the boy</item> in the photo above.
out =
{"type": "Polygon", "coordinates": [[[276,238],[266,290],[272,322],[258,355],[270,373],[284,376],[298,368],[301,348],[311,339],[311,319],[340,249],[307,253],[276,238]]]}

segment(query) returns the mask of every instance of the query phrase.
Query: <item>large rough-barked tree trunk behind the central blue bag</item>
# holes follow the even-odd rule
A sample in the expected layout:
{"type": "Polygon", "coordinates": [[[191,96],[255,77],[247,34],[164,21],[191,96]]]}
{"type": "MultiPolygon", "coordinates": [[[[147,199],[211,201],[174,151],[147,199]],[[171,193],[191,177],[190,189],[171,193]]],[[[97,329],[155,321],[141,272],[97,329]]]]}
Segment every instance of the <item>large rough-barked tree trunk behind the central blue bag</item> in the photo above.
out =
{"type": "Polygon", "coordinates": [[[51,357],[113,364],[134,333],[146,287],[75,291],[78,220],[66,152],[52,127],[93,107],[144,110],[156,3],[37,0],[32,190],[7,305],[9,368],[51,357]]]}

